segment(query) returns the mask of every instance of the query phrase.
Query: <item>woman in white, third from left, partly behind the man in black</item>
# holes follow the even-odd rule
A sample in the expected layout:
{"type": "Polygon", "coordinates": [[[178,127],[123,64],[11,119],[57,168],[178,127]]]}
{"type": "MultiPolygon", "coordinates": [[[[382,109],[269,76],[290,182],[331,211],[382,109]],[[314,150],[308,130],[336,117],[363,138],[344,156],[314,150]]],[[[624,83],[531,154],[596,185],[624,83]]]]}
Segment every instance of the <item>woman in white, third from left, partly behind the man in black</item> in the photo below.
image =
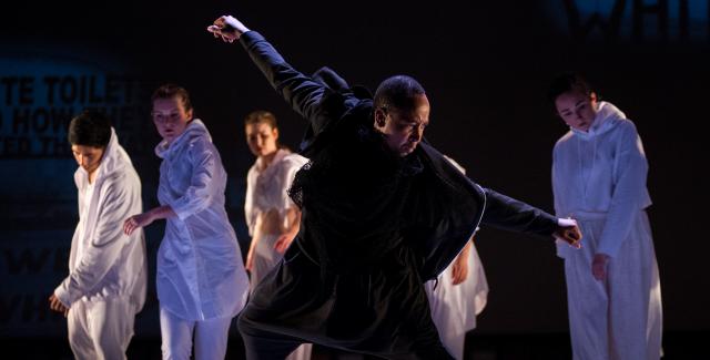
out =
{"type": "MultiPolygon", "coordinates": [[[[280,148],[278,125],[271,112],[254,111],[246,115],[244,131],[248,148],[256,156],[246,176],[244,202],[252,236],[246,269],[252,275],[253,289],[281,261],[298,233],[301,210],[288,197],[288,188],[308,160],[280,148]]],[[[304,343],[286,359],[311,359],[312,348],[311,343],[304,343]]]]}

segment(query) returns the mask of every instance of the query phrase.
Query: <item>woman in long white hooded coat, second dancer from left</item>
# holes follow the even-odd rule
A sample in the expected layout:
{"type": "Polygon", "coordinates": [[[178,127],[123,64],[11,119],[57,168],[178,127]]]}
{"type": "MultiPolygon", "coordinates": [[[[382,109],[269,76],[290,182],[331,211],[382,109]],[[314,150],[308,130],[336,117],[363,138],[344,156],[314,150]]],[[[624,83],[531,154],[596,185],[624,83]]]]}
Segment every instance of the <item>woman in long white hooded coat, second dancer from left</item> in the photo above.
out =
{"type": "Polygon", "coordinates": [[[224,209],[226,172],[190,95],[168,84],[153,93],[153,122],[163,141],[161,206],[125,220],[131,234],[166,219],[158,253],[163,359],[224,359],[232,318],[248,292],[236,235],[224,209]]]}

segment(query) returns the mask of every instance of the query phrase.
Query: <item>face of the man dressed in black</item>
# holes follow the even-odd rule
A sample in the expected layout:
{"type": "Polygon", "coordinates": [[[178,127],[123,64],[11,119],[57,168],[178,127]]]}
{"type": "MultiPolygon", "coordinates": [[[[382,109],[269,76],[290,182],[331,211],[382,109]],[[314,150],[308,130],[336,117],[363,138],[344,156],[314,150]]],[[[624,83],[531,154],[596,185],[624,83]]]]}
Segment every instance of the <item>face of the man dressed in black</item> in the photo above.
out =
{"type": "Polygon", "coordinates": [[[379,107],[375,110],[375,128],[385,135],[392,151],[406,156],[417,148],[429,125],[429,100],[416,95],[412,109],[379,107]]]}

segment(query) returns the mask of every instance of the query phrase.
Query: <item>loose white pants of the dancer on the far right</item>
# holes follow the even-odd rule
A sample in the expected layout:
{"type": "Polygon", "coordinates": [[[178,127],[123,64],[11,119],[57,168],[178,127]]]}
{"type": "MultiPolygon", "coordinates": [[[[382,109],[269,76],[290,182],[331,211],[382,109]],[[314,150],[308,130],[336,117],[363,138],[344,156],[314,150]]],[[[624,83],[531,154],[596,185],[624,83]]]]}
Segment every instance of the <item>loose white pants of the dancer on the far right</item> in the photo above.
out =
{"type": "Polygon", "coordinates": [[[648,217],[639,212],[629,237],[596,280],[591,260],[605,217],[577,214],[582,248],[565,247],[565,276],[575,360],[658,360],[661,357],[661,292],[648,217]]]}

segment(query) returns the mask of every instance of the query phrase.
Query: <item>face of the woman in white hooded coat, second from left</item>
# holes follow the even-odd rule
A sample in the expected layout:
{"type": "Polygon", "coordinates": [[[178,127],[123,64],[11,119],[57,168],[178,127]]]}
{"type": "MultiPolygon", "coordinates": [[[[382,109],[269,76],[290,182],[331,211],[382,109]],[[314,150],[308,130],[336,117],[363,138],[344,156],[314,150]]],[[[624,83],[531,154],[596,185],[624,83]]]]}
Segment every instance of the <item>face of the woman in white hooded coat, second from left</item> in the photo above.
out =
{"type": "Polygon", "coordinates": [[[152,115],[160,136],[172,143],[187,128],[187,123],[192,120],[192,109],[185,110],[182,97],[175,95],[170,99],[155,99],[152,115]]]}

